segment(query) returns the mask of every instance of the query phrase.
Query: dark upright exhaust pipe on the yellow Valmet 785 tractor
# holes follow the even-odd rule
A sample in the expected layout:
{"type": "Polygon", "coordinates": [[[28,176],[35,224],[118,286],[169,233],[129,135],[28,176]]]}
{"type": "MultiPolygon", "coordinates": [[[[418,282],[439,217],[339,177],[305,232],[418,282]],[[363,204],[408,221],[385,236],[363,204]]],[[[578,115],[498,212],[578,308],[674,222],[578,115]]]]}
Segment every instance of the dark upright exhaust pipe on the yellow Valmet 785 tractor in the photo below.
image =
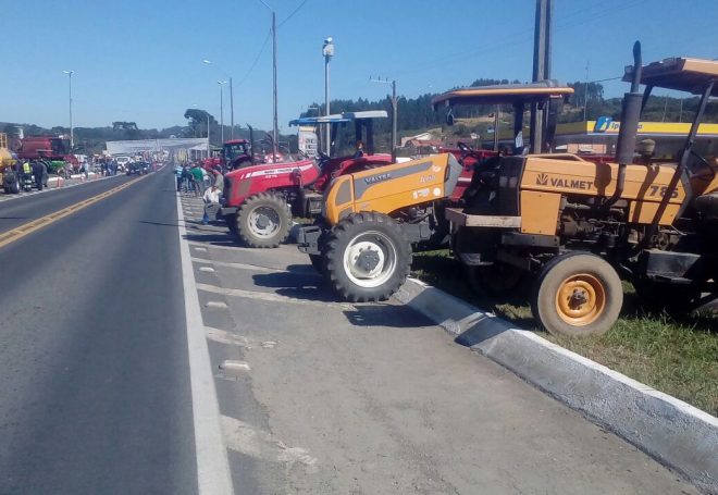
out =
{"type": "Polygon", "coordinates": [[[643,104],[643,94],[641,89],[641,73],[643,63],[641,60],[641,41],[633,44],[633,78],[631,79],[631,92],[623,95],[621,106],[621,128],[618,132],[618,141],[616,144],[616,161],[618,162],[618,177],[616,181],[616,190],[608,198],[604,206],[612,206],[623,194],[626,185],[626,166],[633,162],[635,151],[635,138],[639,134],[639,122],[641,120],[641,109],[643,104]]]}

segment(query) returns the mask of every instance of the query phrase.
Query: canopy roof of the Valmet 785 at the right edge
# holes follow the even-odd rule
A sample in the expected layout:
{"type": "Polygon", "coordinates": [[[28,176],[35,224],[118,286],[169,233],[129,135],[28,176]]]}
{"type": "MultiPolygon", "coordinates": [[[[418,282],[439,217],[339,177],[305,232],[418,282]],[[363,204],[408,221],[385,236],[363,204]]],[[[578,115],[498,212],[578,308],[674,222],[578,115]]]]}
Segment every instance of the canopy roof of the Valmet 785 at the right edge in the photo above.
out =
{"type": "MultiPolygon", "coordinates": [[[[626,67],[623,81],[631,82],[633,66],[626,67]]],[[[656,88],[702,94],[711,79],[718,79],[718,61],[671,58],[643,66],[641,84],[656,88]]],[[[718,96],[718,85],[711,96],[718,96]]]]}

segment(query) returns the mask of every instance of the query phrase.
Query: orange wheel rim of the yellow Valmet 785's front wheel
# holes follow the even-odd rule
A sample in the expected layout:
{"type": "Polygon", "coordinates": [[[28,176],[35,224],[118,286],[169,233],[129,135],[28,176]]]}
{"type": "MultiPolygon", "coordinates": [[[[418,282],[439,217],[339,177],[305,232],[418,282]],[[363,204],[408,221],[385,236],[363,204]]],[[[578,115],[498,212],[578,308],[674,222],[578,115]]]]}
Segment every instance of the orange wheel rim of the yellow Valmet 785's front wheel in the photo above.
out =
{"type": "Polygon", "coordinates": [[[556,311],[566,323],[585,326],[606,309],[606,288],[595,276],[579,273],[567,277],[556,293],[556,311]]]}

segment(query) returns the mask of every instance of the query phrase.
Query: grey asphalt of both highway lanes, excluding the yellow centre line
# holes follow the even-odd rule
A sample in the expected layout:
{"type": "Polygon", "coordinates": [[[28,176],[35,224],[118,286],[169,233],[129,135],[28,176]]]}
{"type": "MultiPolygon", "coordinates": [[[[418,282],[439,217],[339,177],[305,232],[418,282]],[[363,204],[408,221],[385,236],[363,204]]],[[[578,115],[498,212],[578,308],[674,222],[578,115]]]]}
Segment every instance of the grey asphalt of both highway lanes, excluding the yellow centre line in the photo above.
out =
{"type": "MultiPolygon", "coordinates": [[[[170,173],[0,248],[0,493],[196,493],[170,173]]],[[[124,181],[9,201],[0,216],[124,181]]]]}

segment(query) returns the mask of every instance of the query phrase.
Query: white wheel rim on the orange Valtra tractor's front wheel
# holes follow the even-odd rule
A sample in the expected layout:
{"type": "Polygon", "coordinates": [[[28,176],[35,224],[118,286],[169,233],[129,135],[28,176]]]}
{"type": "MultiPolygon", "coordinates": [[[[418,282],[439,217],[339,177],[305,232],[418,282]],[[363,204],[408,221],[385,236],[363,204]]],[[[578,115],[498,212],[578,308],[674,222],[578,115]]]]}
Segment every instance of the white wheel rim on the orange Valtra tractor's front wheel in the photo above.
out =
{"type": "Polygon", "coordinates": [[[360,287],[377,287],[396,270],[396,247],[385,234],[371,231],[355,236],[344,250],[344,271],[360,287]]]}

